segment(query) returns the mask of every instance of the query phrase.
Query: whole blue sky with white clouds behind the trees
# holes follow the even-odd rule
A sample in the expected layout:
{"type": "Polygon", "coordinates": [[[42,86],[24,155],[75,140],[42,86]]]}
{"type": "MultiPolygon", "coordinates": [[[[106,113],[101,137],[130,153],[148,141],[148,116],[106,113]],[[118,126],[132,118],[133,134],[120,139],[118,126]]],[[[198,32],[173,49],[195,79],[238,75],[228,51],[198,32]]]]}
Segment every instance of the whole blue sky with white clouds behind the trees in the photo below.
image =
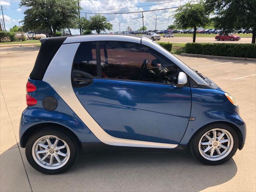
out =
{"type": "MultiPolygon", "coordinates": [[[[119,13],[119,12],[137,12],[137,11],[146,11],[146,10],[156,10],[162,8],[171,8],[176,6],[181,6],[188,2],[188,0],[81,0],[80,4],[83,10],[81,10],[81,17],[86,16],[89,19],[90,16],[94,14],[91,13],[119,13]],[[161,3],[161,4],[160,4],[161,3]],[[152,5],[157,4],[157,5],[152,5]],[[149,6],[147,6],[149,5],[149,6]],[[142,7],[139,7],[142,6],[142,7]],[[133,8],[131,8],[133,7],[133,8]],[[122,9],[119,9],[122,8],[122,9]],[[116,9],[116,10],[110,10],[116,9]]],[[[0,4],[3,7],[3,14],[5,20],[6,30],[9,30],[15,24],[18,26],[19,21],[22,21],[24,18],[24,10],[26,7],[19,6],[20,0],[0,0],[0,4]]],[[[167,26],[173,24],[173,14],[175,9],[169,10],[158,10],[153,12],[144,12],[144,26],[148,30],[155,30],[155,18],[157,15],[157,30],[165,30],[167,26]]],[[[129,26],[132,30],[138,30],[142,27],[142,18],[141,13],[132,13],[132,14],[111,14],[104,15],[107,17],[107,20],[113,24],[112,32],[120,30],[126,31],[129,26]]],[[[2,12],[0,15],[2,19],[2,12]]],[[[2,23],[2,20],[1,20],[2,23]]],[[[22,23],[20,23],[22,25],[22,23]]],[[[111,32],[110,31],[110,32],[111,32]]],[[[107,31],[109,32],[109,31],[107,31]]],[[[72,29],[72,34],[78,34],[79,30],[72,29]]]]}

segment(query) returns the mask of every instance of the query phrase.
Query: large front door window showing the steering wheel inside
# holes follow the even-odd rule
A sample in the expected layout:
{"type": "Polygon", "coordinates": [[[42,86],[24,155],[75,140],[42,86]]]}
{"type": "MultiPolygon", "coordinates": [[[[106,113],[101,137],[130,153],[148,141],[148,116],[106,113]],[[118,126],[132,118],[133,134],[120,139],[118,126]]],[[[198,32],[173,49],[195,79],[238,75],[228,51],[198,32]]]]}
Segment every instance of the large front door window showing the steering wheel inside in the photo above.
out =
{"type": "Polygon", "coordinates": [[[155,50],[136,43],[101,42],[102,78],[177,83],[177,67],[155,50]]]}

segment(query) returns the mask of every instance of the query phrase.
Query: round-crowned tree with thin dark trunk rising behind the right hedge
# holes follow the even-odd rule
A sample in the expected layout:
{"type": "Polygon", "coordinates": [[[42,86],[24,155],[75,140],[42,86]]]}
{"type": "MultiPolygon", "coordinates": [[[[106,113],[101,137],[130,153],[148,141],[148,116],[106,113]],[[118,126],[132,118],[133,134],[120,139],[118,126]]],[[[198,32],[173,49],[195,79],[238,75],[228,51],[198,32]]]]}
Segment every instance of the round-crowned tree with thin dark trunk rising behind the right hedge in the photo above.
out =
{"type": "Polygon", "coordinates": [[[196,27],[205,26],[208,22],[209,14],[206,12],[203,1],[197,4],[190,2],[177,8],[174,15],[174,24],[180,28],[194,28],[193,43],[196,42],[196,27]]]}

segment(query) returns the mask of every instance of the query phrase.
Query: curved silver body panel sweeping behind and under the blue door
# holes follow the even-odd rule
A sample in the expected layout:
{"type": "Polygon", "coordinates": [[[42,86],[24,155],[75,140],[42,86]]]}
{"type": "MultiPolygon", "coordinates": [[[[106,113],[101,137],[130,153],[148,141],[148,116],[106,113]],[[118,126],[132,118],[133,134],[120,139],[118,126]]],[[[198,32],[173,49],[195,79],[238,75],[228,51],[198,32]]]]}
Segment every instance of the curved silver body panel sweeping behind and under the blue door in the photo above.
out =
{"type": "Polygon", "coordinates": [[[47,82],[67,103],[67,105],[86,124],[93,134],[103,143],[114,146],[149,147],[149,148],[175,148],[177,144],[155,143],[139,140],[129,140],[113,137],[99,126],[92,116],[85,110],[78,100],[72,84],[71,70],[75,53],[80,43],[62,44],[52,58],[43,81],[47,82]]]}

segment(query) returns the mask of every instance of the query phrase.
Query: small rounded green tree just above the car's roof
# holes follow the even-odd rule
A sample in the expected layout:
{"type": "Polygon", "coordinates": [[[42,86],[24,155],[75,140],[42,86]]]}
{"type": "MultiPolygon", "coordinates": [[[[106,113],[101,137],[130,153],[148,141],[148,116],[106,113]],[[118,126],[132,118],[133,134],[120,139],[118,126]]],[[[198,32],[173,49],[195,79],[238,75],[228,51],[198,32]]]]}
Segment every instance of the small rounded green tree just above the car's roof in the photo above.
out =
{"type": "Polygon", "coordinates": [[[112,30],[113,25],[107,21],[107,18],[103,15],[90,16],[88,25],[89,30],[96,30],[97,33],[101,31],[112,30]]]}

